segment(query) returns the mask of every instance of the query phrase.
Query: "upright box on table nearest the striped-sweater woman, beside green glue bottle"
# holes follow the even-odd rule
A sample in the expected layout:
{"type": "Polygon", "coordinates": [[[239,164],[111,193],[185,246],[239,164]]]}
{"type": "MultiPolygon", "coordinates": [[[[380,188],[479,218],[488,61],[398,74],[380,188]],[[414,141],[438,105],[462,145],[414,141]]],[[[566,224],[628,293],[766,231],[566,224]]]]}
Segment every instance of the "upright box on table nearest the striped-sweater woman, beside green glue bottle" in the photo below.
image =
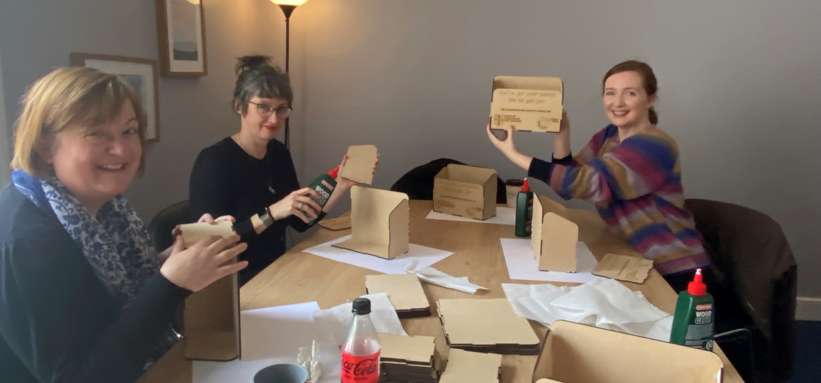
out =
{"type": "Polygon", "coordinates": [[[539,270],[576,273],[579,226],[564,218],[566,208],[545,196],[533,199],[530,245],[539,270]]]}

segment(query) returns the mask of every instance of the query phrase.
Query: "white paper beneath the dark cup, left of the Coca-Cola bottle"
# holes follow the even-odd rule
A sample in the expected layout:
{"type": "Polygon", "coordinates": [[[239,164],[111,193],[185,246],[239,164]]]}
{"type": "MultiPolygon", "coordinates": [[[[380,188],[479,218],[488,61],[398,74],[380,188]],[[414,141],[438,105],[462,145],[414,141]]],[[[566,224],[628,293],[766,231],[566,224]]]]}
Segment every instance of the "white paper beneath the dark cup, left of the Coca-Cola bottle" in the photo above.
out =
{"type": "MultiPolygon", "coordinates": [[[[242,360],[191,363],[193,383],[250,382],[264,367],[296,363],[299,348],[310,346],[319,336],[311,313],[316,302],[289,304],[240,313],[242,360]]],[[[336,345],[319,349],[322,377],[319,382],[338,382],[342,358],[336,345]]]]}

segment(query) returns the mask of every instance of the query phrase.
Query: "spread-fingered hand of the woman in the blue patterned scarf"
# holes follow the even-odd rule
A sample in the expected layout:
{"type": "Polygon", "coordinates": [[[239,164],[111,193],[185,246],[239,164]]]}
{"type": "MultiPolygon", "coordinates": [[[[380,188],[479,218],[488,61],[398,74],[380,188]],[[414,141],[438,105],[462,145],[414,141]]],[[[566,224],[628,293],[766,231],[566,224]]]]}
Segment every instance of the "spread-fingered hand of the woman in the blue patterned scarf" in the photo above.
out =
{"type": "Polygon", "coordinates": [[[236,235],[225,238],[211,236],[186,249],[182,237],[177,237],[171,255],[159,272],[177,286],[200,291],[219,278],[248,266],[248,261],[226,264],[248,248],[245,243],[228,248],[239,240],[240,236],[236,235]]]}

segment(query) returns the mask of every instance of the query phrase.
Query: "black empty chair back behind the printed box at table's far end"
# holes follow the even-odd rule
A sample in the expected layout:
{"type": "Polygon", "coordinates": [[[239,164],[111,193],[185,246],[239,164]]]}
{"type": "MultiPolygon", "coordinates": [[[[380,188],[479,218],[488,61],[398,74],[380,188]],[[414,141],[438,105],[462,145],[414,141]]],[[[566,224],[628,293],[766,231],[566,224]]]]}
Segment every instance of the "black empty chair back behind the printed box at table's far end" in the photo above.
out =
{"type": "MultiPolygon", "coordinates": [[[[433,178],[448,164],[465,164],[449,158],[440,158],[410,169],[397,182],[393,182],[391,191],[399,191],[408,195],[411,200],[433,200],[433,178]]],[[[507,203],[507,191],[502,178],[496,178],[496,203],[507,203]]]]}

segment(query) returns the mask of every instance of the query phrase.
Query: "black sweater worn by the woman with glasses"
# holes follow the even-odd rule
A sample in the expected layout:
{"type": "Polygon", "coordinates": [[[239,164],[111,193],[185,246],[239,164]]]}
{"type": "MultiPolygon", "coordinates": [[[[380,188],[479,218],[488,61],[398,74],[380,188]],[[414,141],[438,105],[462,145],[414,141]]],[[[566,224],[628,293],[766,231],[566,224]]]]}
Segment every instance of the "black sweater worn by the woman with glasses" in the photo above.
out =
{"type": "MultiPolygon", "coordinates": [[[[243,221],[250,220],[265,206],[282,200],[299,188],[291,153],[285,144],[271,140],[265,157],[258,160],[227,137],[206,147],[197,156],[189,185],[190,210],[193,219],[199,219],[205,213],[214,218],[232,215],[236,219],[235,228],[248,228],[250,223],[243,221]],[[268,191],[268,182],[276,193],[268,191]]],[[[241,285],[285,253],[285,229],[288,226],[298,232],[310,228],[291,215],[274,221],[259,235],[253,230],[243,235],[242,241],[248,243],[248,249],[239,258],[247,260],[248,267],[239,273],[241,285]]]]}

